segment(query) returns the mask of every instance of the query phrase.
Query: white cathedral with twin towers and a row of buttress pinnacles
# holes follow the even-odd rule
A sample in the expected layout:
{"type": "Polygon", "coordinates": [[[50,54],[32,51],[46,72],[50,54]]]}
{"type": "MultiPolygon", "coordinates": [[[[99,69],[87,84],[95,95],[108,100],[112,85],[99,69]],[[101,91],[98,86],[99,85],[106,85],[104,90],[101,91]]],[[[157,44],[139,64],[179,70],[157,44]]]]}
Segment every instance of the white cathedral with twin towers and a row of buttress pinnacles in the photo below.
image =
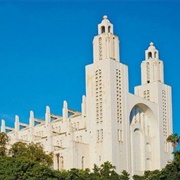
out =
{"type": "Polygon", "coordinates": [[[41,143],[54,154],[54,169],[92,169],[111,162],[117,173],[127,170],[141,175],[163,168],[172,159],[171,87],[164,84],[163,62],[150,43],[141,63],[141,85],[129,93],[128,67],[120,62],[119,39],[113,25],[103,17],[93,40],[93,63],[86,66],[86,95],[81,112],[68,108],[62,116],[46,107],[45,120],[30,112],[29,124],[15,116],[14,128],[2,120],[10,145],[41,143]]]}

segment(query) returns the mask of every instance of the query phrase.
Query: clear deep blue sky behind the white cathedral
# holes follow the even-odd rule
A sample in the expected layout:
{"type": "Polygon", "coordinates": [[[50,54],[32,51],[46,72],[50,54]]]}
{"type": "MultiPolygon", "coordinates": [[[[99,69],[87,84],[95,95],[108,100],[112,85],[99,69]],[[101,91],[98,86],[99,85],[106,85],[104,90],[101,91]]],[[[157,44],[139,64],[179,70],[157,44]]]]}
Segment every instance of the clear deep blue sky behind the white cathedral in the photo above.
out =
{"type": "Polygon", "coordinates": [[[80,110],[85,66],[93,62],[92,40],[103,15],[120,39],[120,61],[129,87],[140,85],[140,64],[153,42],[172,86],[173,129],[180,135],[180,2],[155,0],[0,0],[0,119],[28,123],[45,107],[62,114],[63,101],[80,110]]]}

